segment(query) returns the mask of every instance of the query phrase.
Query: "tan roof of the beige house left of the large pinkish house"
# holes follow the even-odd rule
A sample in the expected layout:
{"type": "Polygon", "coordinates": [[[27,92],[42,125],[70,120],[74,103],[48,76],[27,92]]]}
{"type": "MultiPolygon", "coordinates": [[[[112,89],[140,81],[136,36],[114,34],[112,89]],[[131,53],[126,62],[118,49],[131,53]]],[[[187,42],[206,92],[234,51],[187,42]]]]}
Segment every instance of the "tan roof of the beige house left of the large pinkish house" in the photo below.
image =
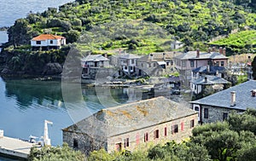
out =
{"type": "Polygon", "coordinates": [[[143,57],[141,57],[138,60],[141,60],[141,61],[151,61],[151,55],[153,55],[153,61],[164,60],[164,55],[163,55],[164,53],[166,54],[165,55],[165,59],[166,60],[172,60],[176,55],[180,55],[181,54],[181,53],[175,52],[175,51],[172,51],[172,52],[162,52],[162,53],[151,53],[149,55],[144,55],[143,57]]]}

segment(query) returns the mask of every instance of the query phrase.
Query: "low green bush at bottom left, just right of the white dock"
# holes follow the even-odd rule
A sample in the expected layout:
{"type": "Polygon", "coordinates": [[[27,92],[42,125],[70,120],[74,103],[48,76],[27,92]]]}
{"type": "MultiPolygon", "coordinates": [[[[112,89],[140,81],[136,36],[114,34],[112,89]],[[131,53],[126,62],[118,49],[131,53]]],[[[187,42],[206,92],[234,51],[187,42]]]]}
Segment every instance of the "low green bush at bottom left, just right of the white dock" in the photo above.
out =
{"type": "Polygon", "coordinates": [[[29,161],[83,161],[84,154],[79,151],[73,151],[68,147],[67,143],[64,143],[62,147],[32,147],[29,161]]]}

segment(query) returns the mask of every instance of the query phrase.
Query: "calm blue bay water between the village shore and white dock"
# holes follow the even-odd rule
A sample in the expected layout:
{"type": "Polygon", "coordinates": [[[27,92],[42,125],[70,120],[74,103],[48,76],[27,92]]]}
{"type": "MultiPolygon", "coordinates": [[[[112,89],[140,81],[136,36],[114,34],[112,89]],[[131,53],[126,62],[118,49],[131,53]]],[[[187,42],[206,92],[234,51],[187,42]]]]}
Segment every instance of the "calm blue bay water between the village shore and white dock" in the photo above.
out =
{"type": "Polygon", "coordinates": [[[61,129],[102,108],[142,99],[141,93],[137,95],[137,90],[132,88],[64,85],[71,88],[69,93],[73,98],[63,99],[65,87],[58,81],[0,78],[0,129],[4,129],[4,135],[20,139],[27,139],[29,135],[43,136],[46,119],[53,122],[49,125],[52,145],[61,145],[61,129]]]}

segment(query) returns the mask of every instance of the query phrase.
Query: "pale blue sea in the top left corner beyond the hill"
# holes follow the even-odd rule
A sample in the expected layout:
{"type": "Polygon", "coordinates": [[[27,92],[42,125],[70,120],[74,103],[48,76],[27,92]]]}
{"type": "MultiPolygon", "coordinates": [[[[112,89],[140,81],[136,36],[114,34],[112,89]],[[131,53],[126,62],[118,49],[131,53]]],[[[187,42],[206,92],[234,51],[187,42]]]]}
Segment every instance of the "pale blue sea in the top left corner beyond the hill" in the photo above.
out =
{"type": "Polygon", "coordinates": [[[12,26],[15,20],[32,13],[43,12],[49,7],[58,7],[73,0],[0,0],[0,27],[12,26]]]}

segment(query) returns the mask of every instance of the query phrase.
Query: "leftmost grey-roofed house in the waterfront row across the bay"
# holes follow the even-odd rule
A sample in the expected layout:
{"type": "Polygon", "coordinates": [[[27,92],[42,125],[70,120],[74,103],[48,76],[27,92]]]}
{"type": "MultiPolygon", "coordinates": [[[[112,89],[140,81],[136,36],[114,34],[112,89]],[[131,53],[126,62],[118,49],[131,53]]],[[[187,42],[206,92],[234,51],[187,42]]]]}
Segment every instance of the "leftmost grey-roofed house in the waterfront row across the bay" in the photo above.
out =
{"type": "Polygon", "coordinates": [[[83,68],[82,78],[92,79],[96,77],[99,69],[110,67],[107,55],[87,55],[81,60],[81,66],[83,68]]]}

